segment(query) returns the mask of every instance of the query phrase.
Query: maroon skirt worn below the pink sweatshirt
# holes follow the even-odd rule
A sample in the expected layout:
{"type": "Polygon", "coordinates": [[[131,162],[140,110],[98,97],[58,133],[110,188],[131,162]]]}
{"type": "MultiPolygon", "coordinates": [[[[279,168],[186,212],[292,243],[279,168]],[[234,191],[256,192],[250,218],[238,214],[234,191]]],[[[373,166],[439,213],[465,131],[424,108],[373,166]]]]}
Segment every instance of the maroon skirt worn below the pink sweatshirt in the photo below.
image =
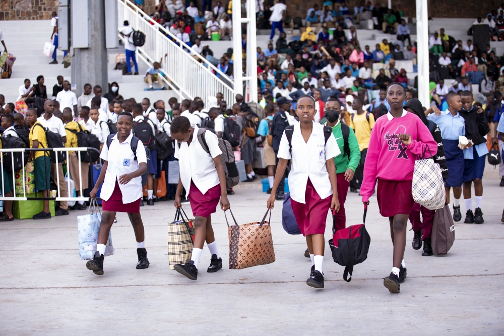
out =
{"type": "Polygon", "coordinates": [[[412,180],[390,181],[378,179],[376,198],[382,216],[393,217],[396,214],[410,214],[415,204],[411,195],[411,184],[412,180]]]}

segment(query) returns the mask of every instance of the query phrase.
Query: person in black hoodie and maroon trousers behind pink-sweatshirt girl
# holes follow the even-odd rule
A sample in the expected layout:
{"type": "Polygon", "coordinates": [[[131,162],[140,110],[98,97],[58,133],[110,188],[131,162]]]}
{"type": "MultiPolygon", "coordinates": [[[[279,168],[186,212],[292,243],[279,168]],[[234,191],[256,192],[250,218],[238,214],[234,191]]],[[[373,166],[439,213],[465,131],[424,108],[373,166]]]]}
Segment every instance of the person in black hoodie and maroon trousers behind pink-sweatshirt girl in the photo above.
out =
{"type": "MultiPolygon", "coordinates": [[[[434,138],[434,141],[437,143],[437,153],[434,155],[434,162],[439,164],[443,179],[446,181],[448,179],[448,167],[446,165],[442,131],[432,120],[427,120],[423,111],[422,103],[417,98],[408,100],[404,105],[404,109],[414,115],[417,115],[422,120],[423,124],[429,129],[430,134],[434,138]]],[[[432,109],[432,107],[430,109],[432,109]]],[[[455,110],[455,112],[457,112],[457,110],[455,110]]],[[[450,195],[449,187],[447,194],[450,195]]],[[[432,246],[430,244],[432,225],[434,223],[434,214],[435,210],[427,209],[426,207],[415,202],[413,209],[408,216],[408,219],[411,221],[411,227],[415,232],[413,236],[413,249],[419,250],[422,247],[423,242],[423,256],[430,256],[434,254],[434,252],[432,251],[432,246]],[[420,220],[420,213],[422,213],[422,220],[420,220]]]]}

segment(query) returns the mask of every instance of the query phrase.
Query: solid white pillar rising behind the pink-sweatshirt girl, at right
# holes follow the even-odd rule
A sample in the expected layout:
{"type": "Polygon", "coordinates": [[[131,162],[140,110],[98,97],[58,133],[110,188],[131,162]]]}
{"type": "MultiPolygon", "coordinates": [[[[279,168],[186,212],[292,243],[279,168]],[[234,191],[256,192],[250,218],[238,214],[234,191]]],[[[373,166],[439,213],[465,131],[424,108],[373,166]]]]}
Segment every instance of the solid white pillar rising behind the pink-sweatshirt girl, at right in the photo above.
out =
{"type": "Polygon", "coordinates": [[[416,42],[418,65],[418,99],[429,107],[429,27],[427,0],[416,0],[416,42]]]}

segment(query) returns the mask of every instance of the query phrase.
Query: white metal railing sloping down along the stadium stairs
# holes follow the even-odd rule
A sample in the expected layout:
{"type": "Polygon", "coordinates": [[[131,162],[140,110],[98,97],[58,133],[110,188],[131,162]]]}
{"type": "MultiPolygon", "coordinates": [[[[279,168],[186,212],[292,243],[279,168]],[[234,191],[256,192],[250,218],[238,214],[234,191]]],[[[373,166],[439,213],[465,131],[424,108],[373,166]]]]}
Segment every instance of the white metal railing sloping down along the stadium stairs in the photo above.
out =
{"type": "MultiPolygon", "coordinates": [[[[185,51],[185,49],[191,50],[191,47],[152,20],[132,2],[117,0],[119,30],[125,20],[129,21],[132,28],[142,31],[146,36],[145,44],[142,47],[137,47],[137,50],[145,55],[149,62],[159,62],[163,57],[161,70],[169,82],[186,98],[194,99],[198,96],[206,101],[207,97],[215,96],[217,92],[221,92],[224,96],[223,99],[228,104],[234,102],[232,79],[201,55],[185,51]],[[164,58],[165,54],[168,54],[168,57],[164,58]],[[221,79],[212,71],[219,74],[221,79]]],[[[170,87],[173,86],[170,85],[170,87]]]]}

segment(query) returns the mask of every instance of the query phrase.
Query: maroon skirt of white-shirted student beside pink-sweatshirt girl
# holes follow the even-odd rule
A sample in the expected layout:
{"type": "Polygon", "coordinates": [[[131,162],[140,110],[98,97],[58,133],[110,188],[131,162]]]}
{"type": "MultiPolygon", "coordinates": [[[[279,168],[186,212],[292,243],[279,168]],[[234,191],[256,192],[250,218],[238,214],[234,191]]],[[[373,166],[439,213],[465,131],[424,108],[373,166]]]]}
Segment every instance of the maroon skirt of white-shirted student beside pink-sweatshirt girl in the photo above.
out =
{"type": "Polygon", "coordinates": [[[301,231],[303,236],[324,234],[326,231],[327,213],[331,207],[332,198],[333,195],[330,195],[321,199],[313,184],[311,184],[310,179],[308,179],[306,192],[304,193],[304,201],[306,203],[298,203],[292,198],[290,199],[292,212],[294,212],[299,231],[301,231]]]}

